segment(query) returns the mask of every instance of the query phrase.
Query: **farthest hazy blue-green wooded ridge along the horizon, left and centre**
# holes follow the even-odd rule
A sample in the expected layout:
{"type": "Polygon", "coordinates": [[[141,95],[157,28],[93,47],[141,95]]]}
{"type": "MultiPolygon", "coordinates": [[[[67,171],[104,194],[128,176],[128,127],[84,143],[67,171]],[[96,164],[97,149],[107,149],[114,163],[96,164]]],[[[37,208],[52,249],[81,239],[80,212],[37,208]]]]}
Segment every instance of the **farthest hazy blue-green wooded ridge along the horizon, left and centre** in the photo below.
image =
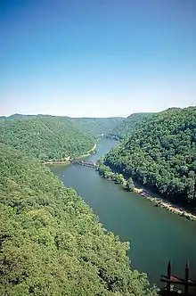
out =
{"type": "Polygon", "coordinates": [[[107,134],[112,131],[114,127],[118,127],[121,123],[125,121],[121,117],[111,117],[111,118],[71,118],[67,116],[52,116],[52,115],[23,115],[23,114],[12,114],[11,116],[5,118],[4,116],[0,119],[61,119],[65,120],[65,123],[72,123],[75,127],[90,134],[91,136],[98,136],[101,134],[107,134]]]}

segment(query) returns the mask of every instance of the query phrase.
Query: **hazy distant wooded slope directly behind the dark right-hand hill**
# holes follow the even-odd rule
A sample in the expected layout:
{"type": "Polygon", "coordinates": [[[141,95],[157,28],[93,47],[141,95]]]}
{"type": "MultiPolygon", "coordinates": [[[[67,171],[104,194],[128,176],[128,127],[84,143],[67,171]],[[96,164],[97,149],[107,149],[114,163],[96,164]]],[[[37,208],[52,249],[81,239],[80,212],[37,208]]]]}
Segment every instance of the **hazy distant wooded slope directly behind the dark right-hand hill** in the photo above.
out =
{"type": "Polygon", "coordinates": [[[131,133],[135,132],[138,127],[142,126],[147,119],[155,113],[133,113],[127,117],[127,119],[122,120],[118,126],[113,127],[110,134],[116,135],[119,138],[123,138],[131,133]]]}

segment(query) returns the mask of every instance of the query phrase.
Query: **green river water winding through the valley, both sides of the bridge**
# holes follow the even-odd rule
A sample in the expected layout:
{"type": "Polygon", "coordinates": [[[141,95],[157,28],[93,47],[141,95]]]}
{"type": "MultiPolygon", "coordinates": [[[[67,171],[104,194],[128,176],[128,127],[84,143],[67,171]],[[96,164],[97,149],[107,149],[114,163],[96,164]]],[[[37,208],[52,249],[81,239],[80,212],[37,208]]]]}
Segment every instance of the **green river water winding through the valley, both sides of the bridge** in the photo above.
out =
{"type": "MultiPolygon", "coordinates": [[[[101,139],[97,153],[88,160],[98,160],[117,144],[101,139]]],[[[53,173],[64,185],[73,187],[92,207],[102,225],[130,242],[128,256],[131,266],[160,285],[160,275],[167,273],[167,261],[172,271],[184,277],[184,264],[190,262],[190,275],[196,279],[196,223],[154,207],[151,201],[137,193],[128,193],[119,185],[98,175],[94,169],[79,165],[53,166],[53,173]]]]}

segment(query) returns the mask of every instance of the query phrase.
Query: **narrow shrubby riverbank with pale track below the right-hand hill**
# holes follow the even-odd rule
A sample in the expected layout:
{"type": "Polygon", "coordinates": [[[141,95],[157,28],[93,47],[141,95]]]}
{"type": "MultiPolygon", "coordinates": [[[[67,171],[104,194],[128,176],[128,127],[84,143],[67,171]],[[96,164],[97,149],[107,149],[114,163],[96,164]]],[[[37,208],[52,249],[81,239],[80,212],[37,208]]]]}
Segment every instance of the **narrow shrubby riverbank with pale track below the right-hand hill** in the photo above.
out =
{"type": "MultiPolygon", "coordinates": [[[[98,163],[97,164],[97,170],[99,171],[99,174],[111,181],[117,182],[119,185],[122,185],[124,189],[127,189],[128,185],[128,180],[123,174],[118,174],[113,172],[109,166],[103,165],[103,163],[98,163]]],[[[189,212],[188,210],[182,209],[175,204],[172,204],[171,202],[167,201],[164,199],[161,195],[152,193],[149,189],[146,189],[144,187],[139,186],[136,184],[136,182],[133,182],[132,178],[131,179],[131,190],[128,189],[128,191],[133,191],[135,193],[138,193],[145,197],[147,200],[153,202],[153,204],[156,207],[160,207],[166,210],[169,210],[181,217],[187,218],[192,221],[196,221],[196,215],[193,213],[189,212]]]]}

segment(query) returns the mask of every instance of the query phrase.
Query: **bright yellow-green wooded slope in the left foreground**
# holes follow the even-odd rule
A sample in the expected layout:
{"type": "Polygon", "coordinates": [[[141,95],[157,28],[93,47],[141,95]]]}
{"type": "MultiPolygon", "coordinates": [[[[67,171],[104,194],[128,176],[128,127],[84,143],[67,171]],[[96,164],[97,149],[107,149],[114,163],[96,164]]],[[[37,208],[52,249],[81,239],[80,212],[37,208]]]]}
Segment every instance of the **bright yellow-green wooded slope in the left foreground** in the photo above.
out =
{"type": "Polygon", "coordinates": [[[0,144],[2,296],[152,296],[127,243],[106,233],[73,189],[37,160],[0,144]]]}

